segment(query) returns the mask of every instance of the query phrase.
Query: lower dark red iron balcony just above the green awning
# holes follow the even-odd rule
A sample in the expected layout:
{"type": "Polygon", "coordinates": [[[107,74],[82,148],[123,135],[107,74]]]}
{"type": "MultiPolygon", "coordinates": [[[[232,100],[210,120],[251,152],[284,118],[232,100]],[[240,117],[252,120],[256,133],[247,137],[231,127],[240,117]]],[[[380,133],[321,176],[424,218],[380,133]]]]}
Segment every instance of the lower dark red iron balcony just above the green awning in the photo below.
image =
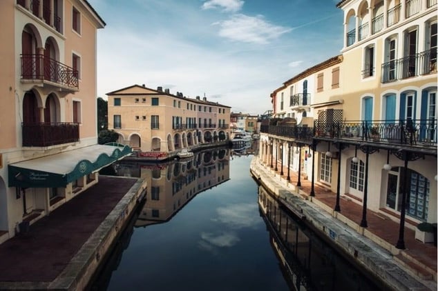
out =
{"type": "Polygon", "coordinates": [[[79,123],[23,123],[23,147],[46,147],[79,141],[79,123]]]}

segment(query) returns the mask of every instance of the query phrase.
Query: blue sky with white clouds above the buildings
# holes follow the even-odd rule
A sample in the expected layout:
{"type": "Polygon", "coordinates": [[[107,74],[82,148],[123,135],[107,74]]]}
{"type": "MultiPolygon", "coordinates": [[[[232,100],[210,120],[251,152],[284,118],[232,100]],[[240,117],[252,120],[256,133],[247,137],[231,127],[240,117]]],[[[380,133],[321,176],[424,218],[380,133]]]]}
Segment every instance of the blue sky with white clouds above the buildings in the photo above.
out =
{"type": "Polygon", "coordinates": [[[334,0],[88,0],[97,96],[134,84],[263,114],[283,82],[340,53],[334,0]]]}

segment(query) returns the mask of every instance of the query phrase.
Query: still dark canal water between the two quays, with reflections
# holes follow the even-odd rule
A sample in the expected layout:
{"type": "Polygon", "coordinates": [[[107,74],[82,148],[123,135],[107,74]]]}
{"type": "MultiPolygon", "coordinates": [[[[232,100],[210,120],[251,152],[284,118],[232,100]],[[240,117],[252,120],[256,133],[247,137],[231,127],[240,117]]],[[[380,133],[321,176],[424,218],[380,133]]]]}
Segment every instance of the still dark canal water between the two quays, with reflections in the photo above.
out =
{"type": "Polygon", "coordinates": [[[323,244],[227,148],[160,165],[122,162],[146,201],[91,290],[379,290],[323,244]]]}

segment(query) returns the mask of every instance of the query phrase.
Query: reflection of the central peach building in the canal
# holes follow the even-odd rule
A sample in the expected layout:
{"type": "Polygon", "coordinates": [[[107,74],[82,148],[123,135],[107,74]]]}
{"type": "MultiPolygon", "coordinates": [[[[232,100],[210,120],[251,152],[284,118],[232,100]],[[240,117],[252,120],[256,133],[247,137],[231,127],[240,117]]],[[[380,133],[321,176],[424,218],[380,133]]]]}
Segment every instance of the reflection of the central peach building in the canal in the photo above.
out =
{"type": "Polygon", "coordinates": [[[138,175],[148,185],[146,203],[135,225],[168,221],[196,194],[228,181],[229,156],[229,149],[217,148],[197,152],[189,161],[117,164],[117,174],[138,175]]]}

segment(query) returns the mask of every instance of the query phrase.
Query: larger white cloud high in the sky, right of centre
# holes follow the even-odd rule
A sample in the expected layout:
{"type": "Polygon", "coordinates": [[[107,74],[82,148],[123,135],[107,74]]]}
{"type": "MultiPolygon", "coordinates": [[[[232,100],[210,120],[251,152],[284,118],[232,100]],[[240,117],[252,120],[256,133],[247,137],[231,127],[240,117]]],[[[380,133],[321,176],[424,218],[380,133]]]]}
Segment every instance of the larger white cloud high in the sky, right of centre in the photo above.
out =
{"type": "Polygon", "coordinates": [[[228,20],[213,24],[220,26],[220,37],[245,43],[266,44],[291,31],[290,28],[275,26],[265,21],[261,15],[250,17],[245,14],[235,14],[228,20]]]}

